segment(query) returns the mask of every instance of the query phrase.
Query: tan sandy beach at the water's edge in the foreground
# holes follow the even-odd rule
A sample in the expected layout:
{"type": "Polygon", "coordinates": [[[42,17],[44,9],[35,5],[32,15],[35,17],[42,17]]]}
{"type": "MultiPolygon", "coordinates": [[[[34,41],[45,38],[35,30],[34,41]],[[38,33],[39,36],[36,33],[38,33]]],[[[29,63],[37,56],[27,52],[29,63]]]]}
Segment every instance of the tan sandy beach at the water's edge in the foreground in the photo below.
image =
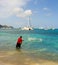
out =
{"type": "Polygon", "coordinates": [[[58,65],[58,62],[31,57],[18,51],[0,51],[0,65],[58,65]]]}

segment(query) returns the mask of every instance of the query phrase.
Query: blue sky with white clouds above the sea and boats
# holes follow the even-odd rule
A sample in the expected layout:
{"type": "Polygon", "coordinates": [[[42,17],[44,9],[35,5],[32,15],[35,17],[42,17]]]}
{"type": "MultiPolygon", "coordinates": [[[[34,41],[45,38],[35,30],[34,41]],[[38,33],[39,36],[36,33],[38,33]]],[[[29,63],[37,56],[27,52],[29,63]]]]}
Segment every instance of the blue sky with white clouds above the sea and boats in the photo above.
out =
{"type": "Polygon", "coordinates": [[[0,0],[0,24],[58,28],[58,0],[0,0]]]}

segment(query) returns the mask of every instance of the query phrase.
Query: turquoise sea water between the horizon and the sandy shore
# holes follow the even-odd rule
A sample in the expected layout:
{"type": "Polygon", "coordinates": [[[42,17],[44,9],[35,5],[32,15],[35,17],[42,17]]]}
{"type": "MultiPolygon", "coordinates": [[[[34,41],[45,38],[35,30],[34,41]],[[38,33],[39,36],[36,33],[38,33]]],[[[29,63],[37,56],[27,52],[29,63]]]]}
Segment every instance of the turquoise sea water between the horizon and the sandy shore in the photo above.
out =
{"type": "Polygon", "coordinates": [[[58,30],[0,29],[0,51],[16,51],[17,38],[22,35],[21,51],[32,56],[58,60],[58,30]]]}

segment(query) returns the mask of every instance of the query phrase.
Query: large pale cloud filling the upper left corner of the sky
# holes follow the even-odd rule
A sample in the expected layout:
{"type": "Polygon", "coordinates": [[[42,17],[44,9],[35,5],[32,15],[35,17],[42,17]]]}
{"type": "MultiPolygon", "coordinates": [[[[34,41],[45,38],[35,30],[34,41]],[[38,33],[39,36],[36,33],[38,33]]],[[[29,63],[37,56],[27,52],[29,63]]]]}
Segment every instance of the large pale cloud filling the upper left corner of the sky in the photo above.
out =
{"type": "Polygon", "coordinates": [[[0,0],[0,17],[9,17],[19,12],[23,12],[23,6],[28,3],[29,0],[0,0]]]}

